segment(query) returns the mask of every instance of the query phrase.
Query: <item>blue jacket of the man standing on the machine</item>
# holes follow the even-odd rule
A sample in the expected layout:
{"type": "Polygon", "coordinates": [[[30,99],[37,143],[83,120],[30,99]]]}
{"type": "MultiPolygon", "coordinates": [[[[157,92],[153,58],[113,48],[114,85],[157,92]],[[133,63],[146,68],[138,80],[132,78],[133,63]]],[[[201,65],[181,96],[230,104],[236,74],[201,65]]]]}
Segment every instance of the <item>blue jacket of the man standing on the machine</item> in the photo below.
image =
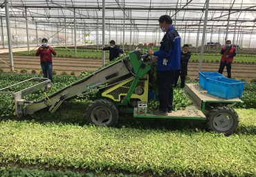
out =
{"type": "Polygon", "coordinates": [[[171,25],[161,41],[161,47],[158,52],[156,71],[179,70],[181,68],[181,37],[171,25]],[[163,59],[167,59],[167,65],[163,65],[163,59]]]}

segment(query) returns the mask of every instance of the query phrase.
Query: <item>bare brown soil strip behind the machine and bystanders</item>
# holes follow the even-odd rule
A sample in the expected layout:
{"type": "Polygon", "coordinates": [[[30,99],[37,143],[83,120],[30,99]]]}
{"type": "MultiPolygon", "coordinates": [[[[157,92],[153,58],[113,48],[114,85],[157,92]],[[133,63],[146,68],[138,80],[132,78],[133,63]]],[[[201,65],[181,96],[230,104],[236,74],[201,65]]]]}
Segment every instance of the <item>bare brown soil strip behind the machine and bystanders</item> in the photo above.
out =
{"type": "MultiPolygon", "coordinates": [[[[9,54],[0,54],[0,59],[10,63],[9,54]]],[[[13,62],[15,64],[15,70],[20,72],[24,67],[28,70],[27,73],[31,73],[34,69],[37,74],[42,70],[39,63],[39,56],[13,56],[13,62]]],[[[105,59],[107,63],[109,59],[105,59]]],[[[0,68],[4,72],[10,72],[10,67],[0,61],[0,68]]],[[[97,70],[102,66],[102,59],[82,59],[82,58],[65,58],[65,57],[53,57],[53,70],[57,71],[57,75],[61,75],[62,72],[75,72],[75,76],[80,76],[81,71],[90,72],[97,70]]],[[[219,63],[208,63],[202,64],[202,72],[217,72],[219,70],[219,63]]],[[[188,63],[188,76],[191,80],[195,80],[198,77],[199,62],[188,63]]],[[[223,71],[224,76],[228,76],[226,67],[223,71]]],[[[256,78],[256,65],[248,63],[232,63],[231,76],[235,76],[237,80],[246,78],[247,82],[251,79],[256,78]]]]}

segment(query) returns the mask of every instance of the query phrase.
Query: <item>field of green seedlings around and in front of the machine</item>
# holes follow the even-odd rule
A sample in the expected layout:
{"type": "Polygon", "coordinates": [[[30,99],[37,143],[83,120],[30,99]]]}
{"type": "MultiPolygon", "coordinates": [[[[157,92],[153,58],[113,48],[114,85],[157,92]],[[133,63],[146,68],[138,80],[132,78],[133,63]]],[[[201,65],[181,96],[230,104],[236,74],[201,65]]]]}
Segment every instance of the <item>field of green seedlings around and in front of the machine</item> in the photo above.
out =
{"type": "MultiPolygon", "coordinates": [[[[35,76],[42,75],[0,74],[0,85],[35,76]]],[[[78,79],[54,76],[51,92],[78,79]]],[[[99,175],[255,176],[255,86],[246,83],[241,97],[244,105],[235,108],[240,125],[228,137],[208,132],[203,121],[138,119],[129,114],[120,114],[116,127],[87,125],[84,114],[90,101],[78,97],[64,102],[54,114],[42,110],[14,118],[11,96],[1,94],[0,165],[45,171],[86,169],[99,175]]],[[[26,99],[37,100],[42,95],[39,90],[26,99]]]]}

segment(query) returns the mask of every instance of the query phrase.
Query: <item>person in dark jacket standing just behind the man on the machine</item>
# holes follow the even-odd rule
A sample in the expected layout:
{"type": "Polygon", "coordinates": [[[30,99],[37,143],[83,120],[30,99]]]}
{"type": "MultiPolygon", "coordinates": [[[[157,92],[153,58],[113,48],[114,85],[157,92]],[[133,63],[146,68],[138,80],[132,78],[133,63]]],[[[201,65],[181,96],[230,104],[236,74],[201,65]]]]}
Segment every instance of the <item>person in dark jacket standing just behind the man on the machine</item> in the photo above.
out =
{"type": "Polygon", "coordinates": [[[191,52],[188,51],[188,44],[183,45],[181,51],[181,70],[175,71],[174,87],[176,87],[179,76],[181,76],[181,88],[185,87],[185,76],[188,75],[188,60],[190,59],[191,52]]]}

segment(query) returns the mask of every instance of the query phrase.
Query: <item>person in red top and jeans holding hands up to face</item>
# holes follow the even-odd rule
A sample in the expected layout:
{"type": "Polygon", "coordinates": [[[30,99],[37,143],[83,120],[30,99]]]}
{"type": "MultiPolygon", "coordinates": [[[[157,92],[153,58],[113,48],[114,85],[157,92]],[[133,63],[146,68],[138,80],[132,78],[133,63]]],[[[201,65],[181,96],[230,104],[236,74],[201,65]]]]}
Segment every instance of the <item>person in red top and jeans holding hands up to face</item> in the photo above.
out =
{"type": "Polygon", "coordinates": [[[42,45],[39,46],[35,55],[40,56],[40,63],[41,63],[41,68],[44,74],[44,78],[49,77],[49,79],[51,79],[51,82],[53,82],[52,54],[56,55],[56,52],[53,50],[53,48],[50,45],[48,45],[48,40],[46,38],[43,38],[42,45]]]}

